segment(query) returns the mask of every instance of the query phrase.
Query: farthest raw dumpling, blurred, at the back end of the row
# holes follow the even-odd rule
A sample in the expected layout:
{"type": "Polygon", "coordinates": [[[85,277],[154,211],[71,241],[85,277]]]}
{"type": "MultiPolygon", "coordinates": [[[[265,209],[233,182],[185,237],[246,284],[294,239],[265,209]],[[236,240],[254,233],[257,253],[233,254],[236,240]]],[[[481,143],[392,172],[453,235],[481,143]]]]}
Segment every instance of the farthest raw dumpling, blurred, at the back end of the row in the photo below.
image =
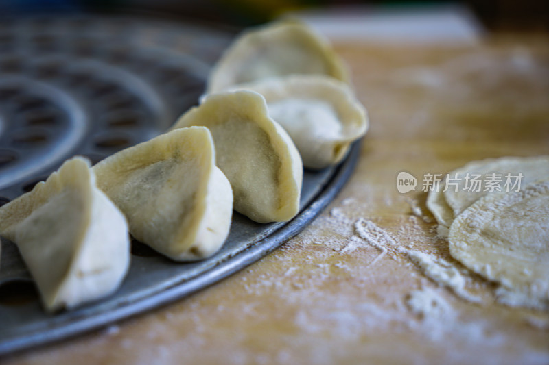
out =
{"type": "Polygon", "coordinates": [[[320,35],[298,21],[281,21],[245,31],[213,68],[207,92],[265,77],[328,75],[348,82],[342,60],[320,35]]]}

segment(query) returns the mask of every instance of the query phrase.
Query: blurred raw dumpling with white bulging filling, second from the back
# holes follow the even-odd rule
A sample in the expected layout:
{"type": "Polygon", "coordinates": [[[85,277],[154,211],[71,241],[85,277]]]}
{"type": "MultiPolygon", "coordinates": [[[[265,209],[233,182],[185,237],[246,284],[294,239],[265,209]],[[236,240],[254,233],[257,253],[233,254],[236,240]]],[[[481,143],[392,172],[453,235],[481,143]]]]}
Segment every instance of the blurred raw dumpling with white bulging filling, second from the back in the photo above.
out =
{"type": "Polygon", "coordinates": [[[235,88],[263,95],[269,116],[292,137],[305,167],[324,168],[340,162],[368,128],[364,107],[347,84],[332,77],[272,77],[235,88]]]}

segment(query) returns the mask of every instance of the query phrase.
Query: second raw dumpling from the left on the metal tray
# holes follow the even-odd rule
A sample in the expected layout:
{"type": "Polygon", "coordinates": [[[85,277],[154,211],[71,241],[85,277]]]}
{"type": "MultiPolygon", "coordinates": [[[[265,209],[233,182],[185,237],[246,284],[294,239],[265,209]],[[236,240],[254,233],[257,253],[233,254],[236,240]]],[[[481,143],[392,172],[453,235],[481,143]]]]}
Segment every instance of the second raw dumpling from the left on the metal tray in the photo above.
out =
{"type": "Polygon", "coordinates": [[[126,215],[137,240],[173,260],[198,260],[222,246],[233,192],[215,166],[208,129],[163,134],[93,167],[97,185],[126,215]]]}

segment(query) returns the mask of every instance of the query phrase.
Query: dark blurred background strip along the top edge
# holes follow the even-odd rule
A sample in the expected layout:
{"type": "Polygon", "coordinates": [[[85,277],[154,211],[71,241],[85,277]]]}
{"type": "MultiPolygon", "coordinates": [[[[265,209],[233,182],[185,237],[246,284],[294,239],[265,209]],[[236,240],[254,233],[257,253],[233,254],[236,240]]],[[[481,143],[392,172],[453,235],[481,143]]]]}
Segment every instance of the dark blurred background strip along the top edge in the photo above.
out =
{"type": "Polygon", "coordinates": [[[353,1],[353,0],[0,0],[0,14],[33,12],[108,12],[192,18],[246,27],[294,10],[360,6],[363,8],[465,5],[492,31],[549,32],[549,0],[353,1]]]}

